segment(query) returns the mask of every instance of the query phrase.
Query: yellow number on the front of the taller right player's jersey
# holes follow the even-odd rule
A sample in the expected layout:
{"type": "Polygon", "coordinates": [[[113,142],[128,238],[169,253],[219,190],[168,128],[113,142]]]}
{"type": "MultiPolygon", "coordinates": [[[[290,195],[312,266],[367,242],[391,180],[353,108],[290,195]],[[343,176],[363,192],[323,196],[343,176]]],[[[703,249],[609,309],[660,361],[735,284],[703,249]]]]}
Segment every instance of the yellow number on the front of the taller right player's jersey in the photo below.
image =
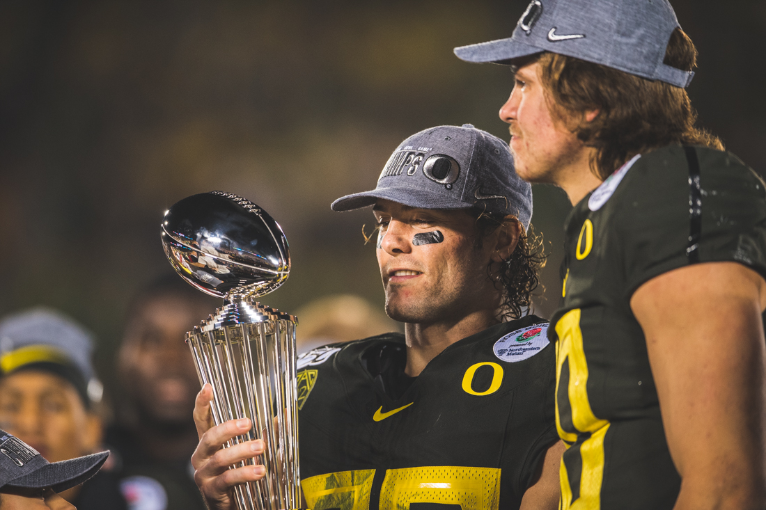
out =
{"type": "Polygon", "coordinates": [[[574,502],[567,468],[562,462],[561,508],[562,510],[597,510],[601,506],[601,482],[604,478],[604,436],[609,429],[607,420],[600,420],[591,410],[588,400],[588,361],[583,349],[580,329],[580,309],[572,309],[556,322],[556,394],[559,394],[561,369],[564,364],[569,368],[567,387],[568,404],[571,410],[572,424],[575,431],[564,430],[561,426],[561,413],[556,399],[556,429],[558,435],[567,443],[575,443],[579,433],[590,432],[591,436],[580,445],[582,472],[580,474],[580,496],[574,502]]]}

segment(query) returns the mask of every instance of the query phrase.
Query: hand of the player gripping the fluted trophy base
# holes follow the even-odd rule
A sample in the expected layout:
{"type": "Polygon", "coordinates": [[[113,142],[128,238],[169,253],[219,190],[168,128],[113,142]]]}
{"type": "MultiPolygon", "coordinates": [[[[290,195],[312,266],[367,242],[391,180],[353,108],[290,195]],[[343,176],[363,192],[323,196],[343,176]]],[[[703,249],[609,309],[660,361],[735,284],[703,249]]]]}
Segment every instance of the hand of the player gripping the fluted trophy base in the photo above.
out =
{"type": "Polygon", "coordinates": [[[263,478],[266,468],[260,465],[237,469],[229,469],[229,467],[264,453],[264,442],[262,440],[247,441],[231,448],[224,448],[223,445],[228,440],[250,430],[250,420],[247,418],[229,420],[214,426],[210,409],[212,398],[213,389],[210,384],[205,384],[195,401],[194,421],[199,443],[194,455],[191,456],[191,465],[195,469],[195,482],[208,508],[234,510],[237,506],[231,497],[231,489],[235,485],[263,478]]]}

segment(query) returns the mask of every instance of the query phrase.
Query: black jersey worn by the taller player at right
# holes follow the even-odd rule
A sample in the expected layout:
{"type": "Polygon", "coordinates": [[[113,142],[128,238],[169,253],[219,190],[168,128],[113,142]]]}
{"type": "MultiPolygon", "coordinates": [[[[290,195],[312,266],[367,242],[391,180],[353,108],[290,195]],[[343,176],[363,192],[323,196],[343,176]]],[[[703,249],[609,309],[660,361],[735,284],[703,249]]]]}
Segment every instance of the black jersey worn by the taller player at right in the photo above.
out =
{"type": "Polygon", "coordinates": [[[680,478],[630,297],[692,263],[736,261],[766,275],[764,198],[735,155],[678,145],[637,156],[571,211],[562,306],[548,331],[568,445],[565,510],[673,508],[680,478]]]}

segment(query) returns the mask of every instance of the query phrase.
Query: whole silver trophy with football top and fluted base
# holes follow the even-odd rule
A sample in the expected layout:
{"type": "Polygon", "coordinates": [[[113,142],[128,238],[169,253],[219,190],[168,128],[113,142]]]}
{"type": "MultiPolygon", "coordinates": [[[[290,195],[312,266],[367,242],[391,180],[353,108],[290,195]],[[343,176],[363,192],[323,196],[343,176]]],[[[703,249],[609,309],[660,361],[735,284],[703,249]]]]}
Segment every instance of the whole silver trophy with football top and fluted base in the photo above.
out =
{"type": "Polygon", "coordinates": [[[254,299],[277,289],[290,273],[281,227],[245,198],[213,191],[184,198],[162,220],[162,246],[188,283],[224,306],[186,334],[199,381],[213,387],[216,424],[247,417],[253,427],[226,447],[262,439],[256,462],[267,475],[238,485],[240,510],[300,508],[297,319],[254,299]]]}

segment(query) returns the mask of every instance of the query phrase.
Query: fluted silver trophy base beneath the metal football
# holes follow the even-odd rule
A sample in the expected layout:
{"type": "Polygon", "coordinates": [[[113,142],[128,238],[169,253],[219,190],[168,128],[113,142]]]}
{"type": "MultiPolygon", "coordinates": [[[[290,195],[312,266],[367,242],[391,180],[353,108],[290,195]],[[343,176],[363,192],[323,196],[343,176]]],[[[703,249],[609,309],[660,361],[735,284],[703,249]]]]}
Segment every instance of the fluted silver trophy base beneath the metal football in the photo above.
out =
{"type": "Polygon", "coordinates": [[[238,510],[300,506],[295,320],[249,299],[233,299],[186,338],[200,383],[213,388],[214,422],[243,417],[252,422],[247,433],[224,447],[257,438],[265,443],[257,459],[232,466],[262,463],[267,470],[257,482],[234,488],[238,510]]]}

